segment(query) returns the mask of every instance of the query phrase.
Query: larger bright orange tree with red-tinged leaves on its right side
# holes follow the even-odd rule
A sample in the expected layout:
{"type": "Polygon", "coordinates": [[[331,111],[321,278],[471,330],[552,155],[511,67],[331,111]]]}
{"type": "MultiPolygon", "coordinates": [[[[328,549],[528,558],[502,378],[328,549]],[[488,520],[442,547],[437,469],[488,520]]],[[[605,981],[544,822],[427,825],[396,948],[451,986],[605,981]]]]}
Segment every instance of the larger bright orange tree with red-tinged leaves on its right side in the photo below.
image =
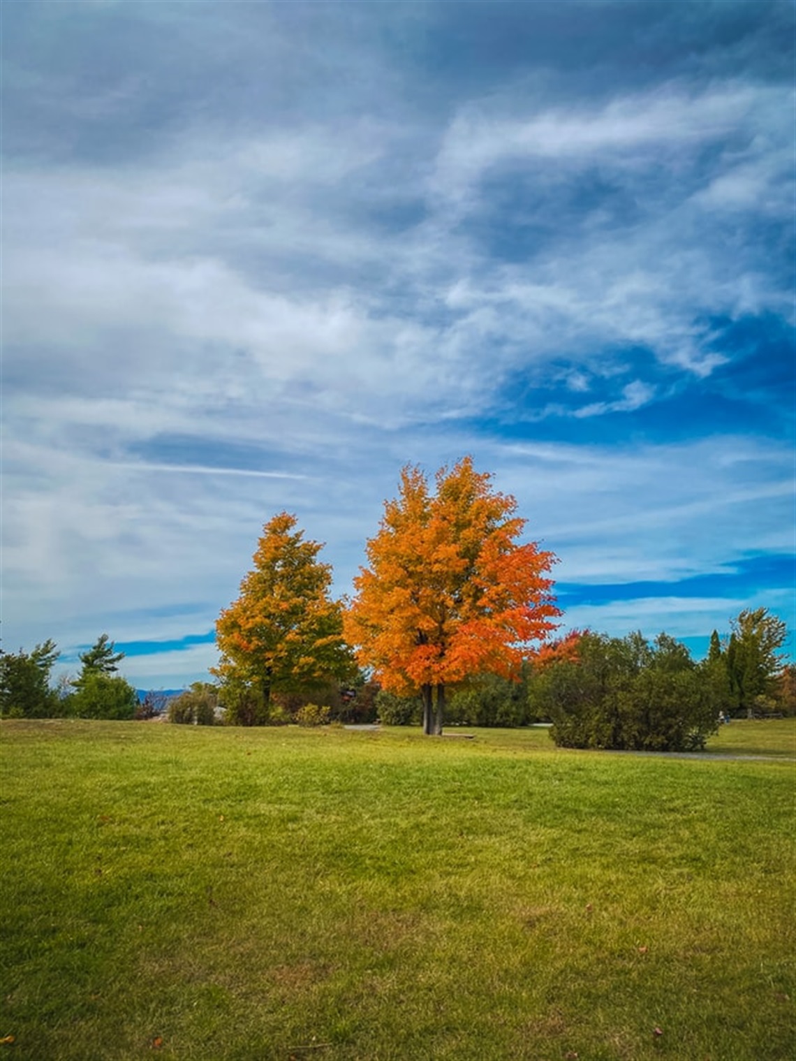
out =
{"type": "Polygon", "coordinates": [[[470,457],[437,472],[435,493],[408,466],[367,542],[346,640],[385,689],[420,693],[426,733],[442,732],[447,686],[473,674],[518,677],[530,644],[555,628],[556,557],[517,541],[525,521],[516,510],[470,457]]]}

